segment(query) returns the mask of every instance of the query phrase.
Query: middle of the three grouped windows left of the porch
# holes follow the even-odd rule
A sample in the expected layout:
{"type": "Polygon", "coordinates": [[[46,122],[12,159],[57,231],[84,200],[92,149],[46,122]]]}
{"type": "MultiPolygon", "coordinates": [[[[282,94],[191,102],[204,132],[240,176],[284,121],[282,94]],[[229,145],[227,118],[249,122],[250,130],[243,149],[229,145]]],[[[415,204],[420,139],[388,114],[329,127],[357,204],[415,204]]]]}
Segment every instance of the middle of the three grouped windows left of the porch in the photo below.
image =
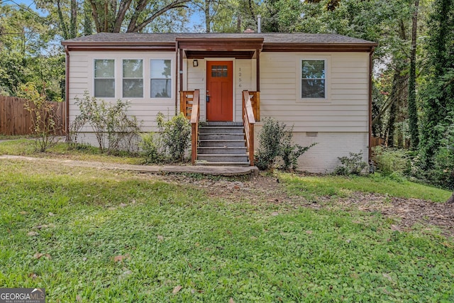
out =
{"type": "Polygon", "coordinates": [[[143,60],[123,60],[123,98],[143,98],[143,60]]]}

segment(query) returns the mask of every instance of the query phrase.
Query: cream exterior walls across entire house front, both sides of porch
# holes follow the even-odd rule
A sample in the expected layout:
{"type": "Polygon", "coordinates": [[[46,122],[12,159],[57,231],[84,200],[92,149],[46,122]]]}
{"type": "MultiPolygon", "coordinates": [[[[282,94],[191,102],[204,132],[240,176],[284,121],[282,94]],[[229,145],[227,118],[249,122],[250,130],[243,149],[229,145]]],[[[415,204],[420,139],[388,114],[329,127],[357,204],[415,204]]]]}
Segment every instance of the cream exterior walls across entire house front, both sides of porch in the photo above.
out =
{"type": "MultiPolygon", "coordinates": [[[[159,111],[165,115],[175,114],[176,74],[175,53],[159,52],[77,52],[70,53],[70,123],[79,114],[76,97],[84,92],[94,94],[94,59],[116,60],[116,97],[105,101],[116,102],[121,98],[121,60],[143,59],[144,97],[130,100],[129,114],[142,122],[143,131],[155,129],[159,111]],[[150,59],[172,60],[172,98],[150,98],[150,59]]],[[[242,121],[242,92],[256,90],[256,61],[233,60],[233,119],[242,121]]],[[[183,60],[183,89],[200,89],[201,121],[206,121],[206,60],[199,59],[193,67],[192,60],[183,60]]],[[[340,164],[338,157],[348,153],[359,153],[367,160],[368,144],[368,53],[261,53],[260,55],[260,114],[263,118],[273,117],[294,127],[294,142],[306,146],[318,143],[301,156],[299,168],[310,172],[330,172],[340,164]],[[302,58],[328,58],[327,98],[307,100],[299,98],[302,58]],[[316,137],[307,133],[316,133],[316,137]]],[[[124,100],[124,99],[123,99],[124,100]]],[[[178,100],[179,101],[179,100],[178,100]]],[[[177,104],[179,109],[179,103],[177,104]]],[[[256,123],[258,133],[262,121],[256,123]]],[[[91,129],[84,128],[82,141],[96,145],[91,129]]],[[[257,136],[255,138],[258,138],[257,136]]],[[[255,146],[258,147],[256,139],[255,146]]]]}

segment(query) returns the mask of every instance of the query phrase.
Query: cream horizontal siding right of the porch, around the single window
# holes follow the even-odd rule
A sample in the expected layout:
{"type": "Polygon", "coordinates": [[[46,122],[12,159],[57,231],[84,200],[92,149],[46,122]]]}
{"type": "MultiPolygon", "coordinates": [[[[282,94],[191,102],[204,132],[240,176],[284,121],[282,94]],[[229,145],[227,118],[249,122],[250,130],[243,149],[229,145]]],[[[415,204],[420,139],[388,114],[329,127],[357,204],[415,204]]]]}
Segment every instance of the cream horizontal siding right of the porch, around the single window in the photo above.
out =
{"type": "Polygon", "coordinates": [[[260,113],[294,131],[368,132],[368,53],[262,53],[260,113]],[[326,100],[299,99],[301,59],[328,58],[326,100]]]}

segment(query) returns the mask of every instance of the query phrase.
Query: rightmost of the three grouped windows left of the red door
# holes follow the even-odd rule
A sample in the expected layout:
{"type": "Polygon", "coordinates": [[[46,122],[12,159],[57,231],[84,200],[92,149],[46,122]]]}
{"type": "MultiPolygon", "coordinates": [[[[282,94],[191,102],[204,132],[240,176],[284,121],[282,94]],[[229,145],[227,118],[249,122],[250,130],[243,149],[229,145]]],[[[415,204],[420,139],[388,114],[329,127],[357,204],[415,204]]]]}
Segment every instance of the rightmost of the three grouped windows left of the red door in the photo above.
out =
{"type": "Polygon", "coordinates": [[[150,97],[172,97],[172,60],[150,60],[150,97]]]}

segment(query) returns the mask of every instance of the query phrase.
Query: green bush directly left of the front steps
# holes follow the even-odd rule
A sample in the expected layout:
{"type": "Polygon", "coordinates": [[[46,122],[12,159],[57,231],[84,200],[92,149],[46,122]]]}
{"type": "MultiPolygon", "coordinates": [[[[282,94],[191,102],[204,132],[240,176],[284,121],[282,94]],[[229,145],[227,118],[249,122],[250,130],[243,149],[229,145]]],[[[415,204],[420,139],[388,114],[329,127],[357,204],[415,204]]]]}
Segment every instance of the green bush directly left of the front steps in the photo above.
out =
{"type": "Polygon", "coordinates": [[[165,120],[157,114],[157,132],[142,136],[140,147],[147,163],[184,161],[184,153],[191,143],[191,123],[182,113],[165,120]]]}

